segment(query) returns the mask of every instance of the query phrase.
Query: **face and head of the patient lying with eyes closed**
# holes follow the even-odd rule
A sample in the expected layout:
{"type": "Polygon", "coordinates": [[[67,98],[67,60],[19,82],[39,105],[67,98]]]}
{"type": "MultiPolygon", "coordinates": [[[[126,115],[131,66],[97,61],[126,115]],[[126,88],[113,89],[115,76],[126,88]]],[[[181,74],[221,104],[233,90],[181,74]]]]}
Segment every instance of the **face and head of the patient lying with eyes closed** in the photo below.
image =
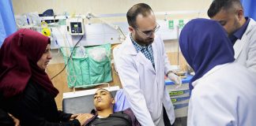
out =
{"type": "Polygon", "coordinates": [[[99,89],[94,94],[94,106],[97,111],[103,109],[112,109],[115,104],[114,98],[112,98],[109,91],[104,89],[99,89]]]}

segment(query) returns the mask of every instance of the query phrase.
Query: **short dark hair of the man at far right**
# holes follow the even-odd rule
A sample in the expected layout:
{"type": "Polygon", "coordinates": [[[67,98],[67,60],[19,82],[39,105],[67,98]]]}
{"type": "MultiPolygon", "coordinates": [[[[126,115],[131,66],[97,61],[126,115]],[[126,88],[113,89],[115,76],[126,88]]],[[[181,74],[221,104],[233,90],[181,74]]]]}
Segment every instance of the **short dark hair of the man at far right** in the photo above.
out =
{"type": "Polygon", "coordinates": [[[220,12],[221,9],[235,9],[235,6],[239,6],[243,9],[240,0],[214,0],[207,11],[208,17],[214,17],[216,13],[220,12]]]}

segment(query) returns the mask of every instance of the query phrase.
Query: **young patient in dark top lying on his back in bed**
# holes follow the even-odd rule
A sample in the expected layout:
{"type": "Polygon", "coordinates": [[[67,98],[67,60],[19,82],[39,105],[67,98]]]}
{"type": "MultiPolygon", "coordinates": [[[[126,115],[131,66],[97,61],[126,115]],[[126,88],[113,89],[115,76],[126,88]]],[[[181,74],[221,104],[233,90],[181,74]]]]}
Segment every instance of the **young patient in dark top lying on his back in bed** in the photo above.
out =
{"type": "Polygon", "coordinates": [[[100,88],[96,91],[93,97],[93,103],[96,108],[92,110],[92,118],[85,122],[84,126],[113,126],[113,125],[124,125],[124,126],[140,126],[134,113],[131,109],[114,113],[115,99],[111,92],[100,88]]]}

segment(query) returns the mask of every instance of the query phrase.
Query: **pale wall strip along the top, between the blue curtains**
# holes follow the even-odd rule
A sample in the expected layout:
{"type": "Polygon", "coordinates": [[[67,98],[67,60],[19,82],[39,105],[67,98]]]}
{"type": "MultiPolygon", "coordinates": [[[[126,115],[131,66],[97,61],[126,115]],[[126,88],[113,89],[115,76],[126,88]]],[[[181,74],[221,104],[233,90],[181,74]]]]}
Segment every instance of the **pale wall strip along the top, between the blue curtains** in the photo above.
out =
{"type": "MultiPolygon", "coordinates": [[[[136,3],[145,2],[155,12],[208,9],[212,0],[13,0],[15,14],[54,9],[55,14],[126,13],[136,3]]],[[[175,16],[180,17],[180,16],[175,16]]]]}

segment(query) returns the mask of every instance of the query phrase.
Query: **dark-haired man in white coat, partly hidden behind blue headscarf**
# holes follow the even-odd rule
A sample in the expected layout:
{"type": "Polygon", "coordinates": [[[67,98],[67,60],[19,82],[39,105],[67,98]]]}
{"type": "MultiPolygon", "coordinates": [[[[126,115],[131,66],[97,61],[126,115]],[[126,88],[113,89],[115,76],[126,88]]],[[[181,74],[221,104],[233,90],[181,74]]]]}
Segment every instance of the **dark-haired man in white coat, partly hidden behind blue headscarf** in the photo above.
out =
{"type": "Polygon", "coordinates": [[[228,32],[235,50],[235,61],[256,72],[256,22],[244,17],[240,0],[215,0],[208,16],[228,32]]]}

